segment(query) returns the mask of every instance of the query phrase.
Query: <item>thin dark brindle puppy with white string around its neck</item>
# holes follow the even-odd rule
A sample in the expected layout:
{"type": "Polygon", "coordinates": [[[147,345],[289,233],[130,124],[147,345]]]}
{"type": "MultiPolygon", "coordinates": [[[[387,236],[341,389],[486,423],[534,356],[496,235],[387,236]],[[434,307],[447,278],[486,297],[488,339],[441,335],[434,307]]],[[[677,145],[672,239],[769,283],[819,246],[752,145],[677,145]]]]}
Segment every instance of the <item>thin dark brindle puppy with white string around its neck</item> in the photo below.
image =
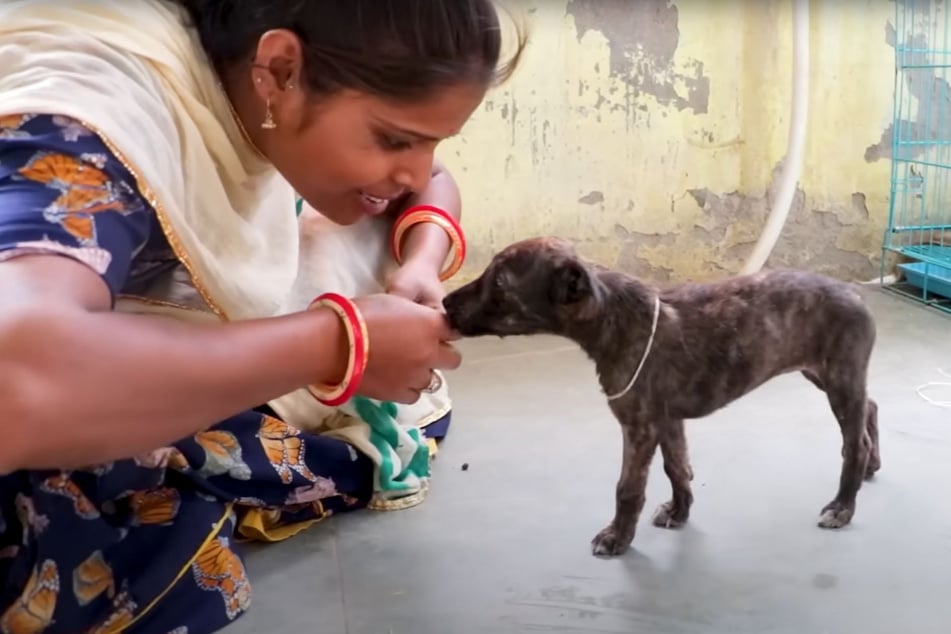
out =
{"type": "Polygon", "coordinates": [[[863,477],[881,467],[878,406],[866,396],[875,323],[849,284],[774,271],[658,289],[583,261],[566,241],[535,238],[496,255],[444,306],[462,336],[560,335],[594,361],[624,434],[615,515],[592,541],[596,555],[633,541],[658,445],[673,497],[653,523],[684,524],[693,503],[684,420],[780,374],[800,371],[823,390],[842,431],[839,489],[819,526],[848,524],[863,477]]]}

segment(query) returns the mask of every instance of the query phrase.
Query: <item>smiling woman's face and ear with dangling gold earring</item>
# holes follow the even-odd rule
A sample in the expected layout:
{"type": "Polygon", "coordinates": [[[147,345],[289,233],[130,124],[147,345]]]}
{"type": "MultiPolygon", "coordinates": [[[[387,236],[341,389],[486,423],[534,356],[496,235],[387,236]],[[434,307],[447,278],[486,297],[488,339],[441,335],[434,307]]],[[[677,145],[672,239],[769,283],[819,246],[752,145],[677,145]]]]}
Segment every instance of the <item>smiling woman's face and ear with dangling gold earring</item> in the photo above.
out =
{"type": "Polygon", "coordinates": [[[458,84],[421,103],[350,90],[314,99],[301,87],[296,38],[268,47],[268,35],[251,69],[258,103],[245,108],[245,127],[297,193],[338,224],[383,213],[394,199],[425,189],[437,144],[457,134],[485,96],[484,86],[458,84]],[[290,87],[275,68],[286,68],[290,87]],[[260,124],[269,98],[276,127],[267,130],[260,124]]]}

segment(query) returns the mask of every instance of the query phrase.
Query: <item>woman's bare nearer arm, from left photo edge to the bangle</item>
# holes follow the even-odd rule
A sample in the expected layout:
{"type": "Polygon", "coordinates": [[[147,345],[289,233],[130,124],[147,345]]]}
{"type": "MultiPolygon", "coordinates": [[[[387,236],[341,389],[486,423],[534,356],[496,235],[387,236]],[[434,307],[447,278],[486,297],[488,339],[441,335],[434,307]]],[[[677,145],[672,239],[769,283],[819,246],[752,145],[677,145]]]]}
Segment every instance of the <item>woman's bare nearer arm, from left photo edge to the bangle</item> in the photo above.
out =
{"type": "Polygon", "coordinates": [[[157,449],[345,364],[337,317],[315,310],[194,324],[82,308],[0,318],[0,472],[71,468],[157,449]]]}

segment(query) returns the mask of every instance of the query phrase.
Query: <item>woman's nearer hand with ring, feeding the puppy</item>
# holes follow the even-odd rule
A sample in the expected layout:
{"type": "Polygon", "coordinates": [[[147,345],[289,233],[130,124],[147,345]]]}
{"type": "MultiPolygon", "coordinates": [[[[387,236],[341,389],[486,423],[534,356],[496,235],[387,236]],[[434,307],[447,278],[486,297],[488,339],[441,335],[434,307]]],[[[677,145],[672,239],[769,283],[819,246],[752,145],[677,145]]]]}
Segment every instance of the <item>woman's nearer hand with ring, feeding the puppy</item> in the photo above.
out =
{"type": "Polygon", "coordinates": [[[358,394],[415,403],[434,369],[454,370],[462,362],[449,343],[453,334],[439,311],[390,294],[364,296],[354,303],[363,314],[370,340],[358,394]]]}

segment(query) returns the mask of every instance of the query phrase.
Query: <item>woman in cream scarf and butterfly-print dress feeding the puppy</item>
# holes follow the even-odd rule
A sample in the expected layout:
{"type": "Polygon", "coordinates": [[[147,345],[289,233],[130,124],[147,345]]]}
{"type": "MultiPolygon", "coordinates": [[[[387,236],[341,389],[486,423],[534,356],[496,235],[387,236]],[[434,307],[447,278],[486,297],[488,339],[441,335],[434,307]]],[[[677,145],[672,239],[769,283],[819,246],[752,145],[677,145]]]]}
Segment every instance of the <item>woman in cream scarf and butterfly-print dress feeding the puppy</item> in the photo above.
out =
{"type": "Polygon", "coordinates": [[[425,488],[490,1],[3,3],[0,632],[219,630],[235,533],[425,488]]]}

